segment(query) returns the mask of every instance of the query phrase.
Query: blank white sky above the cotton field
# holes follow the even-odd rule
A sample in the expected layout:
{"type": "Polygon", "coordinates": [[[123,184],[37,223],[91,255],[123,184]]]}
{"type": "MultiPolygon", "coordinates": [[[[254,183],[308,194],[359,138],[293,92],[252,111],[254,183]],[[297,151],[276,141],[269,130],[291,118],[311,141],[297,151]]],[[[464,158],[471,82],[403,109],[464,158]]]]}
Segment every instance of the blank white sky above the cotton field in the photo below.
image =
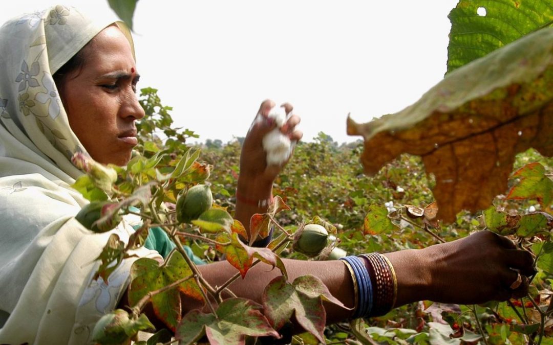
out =
{"type": "MultiPolygon", "coordinates": [[[[62,3],[116,18],[107,0],[62,3]]],[[[158,88],[175,124],[201,141],[246,135],[266,98],[294,105],[305,141],[319,131],[353,141],[349,112],[361,122],[398,112],[442,79],[456,3],[140,0],[139,87],[158,88]]],[[[0,23],[46,7],[4,1],[0,23]]]]}

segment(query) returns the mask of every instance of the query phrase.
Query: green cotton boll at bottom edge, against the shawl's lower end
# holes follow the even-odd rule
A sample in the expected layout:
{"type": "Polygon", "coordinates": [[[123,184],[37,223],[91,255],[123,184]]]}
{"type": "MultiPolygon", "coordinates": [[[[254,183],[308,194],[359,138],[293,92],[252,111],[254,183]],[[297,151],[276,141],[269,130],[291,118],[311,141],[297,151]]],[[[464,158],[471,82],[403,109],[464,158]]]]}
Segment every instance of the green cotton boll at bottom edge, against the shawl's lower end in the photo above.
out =
{"type": "Polygon", "coordinates": [[[116,345],[129,342],[140,330],[153,329],[145,315],[138,319],[129,318],[127,311],[116,309],[101,317],[92,330],[92,341],[102,345],[116,345]]]}

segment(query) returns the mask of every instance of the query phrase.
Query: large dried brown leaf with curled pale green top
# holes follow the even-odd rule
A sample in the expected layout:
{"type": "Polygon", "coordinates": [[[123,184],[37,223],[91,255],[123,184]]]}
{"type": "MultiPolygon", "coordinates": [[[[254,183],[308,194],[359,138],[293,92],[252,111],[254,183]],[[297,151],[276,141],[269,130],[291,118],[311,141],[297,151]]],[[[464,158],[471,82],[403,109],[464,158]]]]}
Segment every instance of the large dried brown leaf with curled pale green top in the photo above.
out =
{"type": "Polygon", "coordinates": [[[374,174],[401,153],[419,155],[436,177],[440,219],[486,209],[507,190],[516,153],[553,155],[553,29],[525,36],[450,73],[396,114],[366,124],[361,158],[374,174]]]}

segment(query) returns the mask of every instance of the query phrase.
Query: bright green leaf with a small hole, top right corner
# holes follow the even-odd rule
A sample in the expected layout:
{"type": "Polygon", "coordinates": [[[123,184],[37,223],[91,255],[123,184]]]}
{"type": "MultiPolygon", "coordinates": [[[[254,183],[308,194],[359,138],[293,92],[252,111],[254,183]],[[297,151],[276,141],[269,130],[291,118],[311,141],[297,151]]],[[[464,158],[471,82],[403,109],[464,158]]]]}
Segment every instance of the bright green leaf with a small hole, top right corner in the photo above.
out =
{"type": "Polygon", "coordinates": [[[461,0],[452,9],[447,72],[551,25],[550,0],[461,0]],[[483,15],[485,13],[485,15],[483,15]]]}

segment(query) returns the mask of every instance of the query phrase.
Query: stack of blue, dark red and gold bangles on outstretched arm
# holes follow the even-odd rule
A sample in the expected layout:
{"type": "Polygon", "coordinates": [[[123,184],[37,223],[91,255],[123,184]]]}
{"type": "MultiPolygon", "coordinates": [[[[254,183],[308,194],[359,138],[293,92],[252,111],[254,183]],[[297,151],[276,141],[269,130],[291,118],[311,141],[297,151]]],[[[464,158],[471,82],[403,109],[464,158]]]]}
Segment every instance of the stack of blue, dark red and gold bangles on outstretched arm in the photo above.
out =
{"type": "Polygon", "coordinates": [[[398,280],[392,263],[382,254],[347,256],[344,262],[353,280],[353,319],[387,314],[395,305],[398,280]],[[366,264],[367,263],[367,264],[366,264]]]}

